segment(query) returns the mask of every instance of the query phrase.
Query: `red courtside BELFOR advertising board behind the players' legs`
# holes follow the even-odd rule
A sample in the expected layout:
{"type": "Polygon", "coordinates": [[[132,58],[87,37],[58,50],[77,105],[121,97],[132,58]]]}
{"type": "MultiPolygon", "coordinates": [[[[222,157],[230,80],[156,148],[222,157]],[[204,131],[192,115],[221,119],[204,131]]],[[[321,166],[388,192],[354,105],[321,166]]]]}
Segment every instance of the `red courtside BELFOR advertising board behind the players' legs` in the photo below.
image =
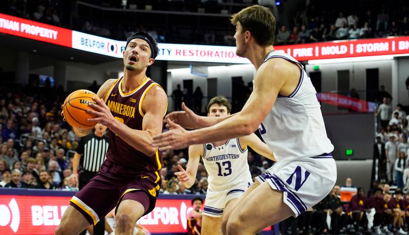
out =
{"type": "MultiPolygon", "coordinates": [[[[151,233],[186,232],[186,215],[192,210],[190,198],[172,196],[177,199],[158,199],[153,211],[138,223],[151,233]]],[[[54,234],[70,199],[66,196],[0,195],[0,234],[54,234]]]]}

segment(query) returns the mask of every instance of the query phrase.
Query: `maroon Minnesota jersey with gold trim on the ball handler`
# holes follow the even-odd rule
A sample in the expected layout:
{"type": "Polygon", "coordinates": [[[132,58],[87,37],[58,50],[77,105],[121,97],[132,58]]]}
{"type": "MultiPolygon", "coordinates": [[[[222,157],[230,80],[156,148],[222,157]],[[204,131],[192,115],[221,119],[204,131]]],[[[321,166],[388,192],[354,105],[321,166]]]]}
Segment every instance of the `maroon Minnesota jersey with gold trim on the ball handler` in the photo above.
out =
{"type": "MultiPolygon", "coordinates": [[[[143,99],[149,89],[159,85],[147,77],[137,89],[124,94],[121,90],[122,81],[123,77],[111,86],[105,97],[106,105],[116,119],[129,128],[142,130],[142,120],[145,115],[142,111],[143,99]]],[[[108,135],[109,147],[106,153],[108,160],[140,172],[153,172],[162,168],[163,160],[157,151],[152,156],[147,156],[109,129],[108,135]]]]}

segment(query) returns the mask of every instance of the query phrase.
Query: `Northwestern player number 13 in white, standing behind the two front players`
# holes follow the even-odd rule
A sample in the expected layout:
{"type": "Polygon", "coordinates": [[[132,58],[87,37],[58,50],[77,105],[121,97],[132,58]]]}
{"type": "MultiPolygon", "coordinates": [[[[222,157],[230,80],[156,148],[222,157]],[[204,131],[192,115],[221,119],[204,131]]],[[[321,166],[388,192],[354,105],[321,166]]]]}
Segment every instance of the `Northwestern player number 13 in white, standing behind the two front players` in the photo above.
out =
{"type": "MultiPolygon", "coordinates": [[[[232,105],[224,96],[213,97],[208,104],[208,117],[230,115],[232,105]]],[[[255,134],[236,139],[189,146],[189,161],[186,171],[178,165],[177,178],[186,188],[195,182],[200,158],[209,174],[209,187],[201,223],[202,235],[219,234],[223,211],[228,211],[234,202],[253,184],[247,164],[247,146],[275,161],[268,146],[255,134]]]]}

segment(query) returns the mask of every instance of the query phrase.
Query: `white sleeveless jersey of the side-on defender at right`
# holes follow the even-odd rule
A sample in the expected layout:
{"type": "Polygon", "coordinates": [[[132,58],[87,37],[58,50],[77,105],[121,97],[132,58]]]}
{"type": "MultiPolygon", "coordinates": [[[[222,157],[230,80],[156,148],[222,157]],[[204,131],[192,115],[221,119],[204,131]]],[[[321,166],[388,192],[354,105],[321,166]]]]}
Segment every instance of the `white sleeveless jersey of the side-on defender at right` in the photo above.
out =
{"type": "Polygon", "coordinates": [[[271,51],[264,62],[282,58],[302,68],[300,81],[289,96],[278,95],[274,106],[260,125],[260,134],[277,161],[331,153],[321,105],[303,65],[281,51],[271,51]]]}

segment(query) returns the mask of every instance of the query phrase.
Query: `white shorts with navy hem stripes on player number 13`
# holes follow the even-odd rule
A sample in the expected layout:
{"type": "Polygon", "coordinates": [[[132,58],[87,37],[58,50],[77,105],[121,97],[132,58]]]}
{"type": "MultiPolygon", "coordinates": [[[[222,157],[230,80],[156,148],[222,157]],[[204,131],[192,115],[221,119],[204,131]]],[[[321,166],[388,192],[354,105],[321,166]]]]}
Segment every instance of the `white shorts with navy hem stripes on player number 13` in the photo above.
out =
{"type": "Polygon", "coordinates": [[[251,181],[244,180],[240,184],[221,191],[208,189],[205,200],[205,208],[203,208],[202,214],[211,217],[221,217],[223,215],[224,206],[226,203],[234,198],[239,198],[251,185],[251,181]]]}

